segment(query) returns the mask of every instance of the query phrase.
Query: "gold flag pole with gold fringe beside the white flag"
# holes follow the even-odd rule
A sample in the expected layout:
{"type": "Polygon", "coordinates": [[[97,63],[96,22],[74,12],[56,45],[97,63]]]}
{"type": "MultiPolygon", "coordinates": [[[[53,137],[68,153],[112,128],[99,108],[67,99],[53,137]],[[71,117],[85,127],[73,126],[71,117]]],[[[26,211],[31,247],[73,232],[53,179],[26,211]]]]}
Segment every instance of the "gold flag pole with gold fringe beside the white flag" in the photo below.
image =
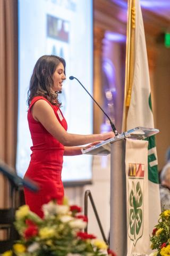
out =
{"type": "Polygon", "coordinates": [[[135,36],[135,0],[128,0],[128,18],[126,29],[126,61],[125,61],[125,87],[124,111],[122,131],[126,130],[126,119],[131,100],[133,71],[134,71],[134,36],[135,36]]]}

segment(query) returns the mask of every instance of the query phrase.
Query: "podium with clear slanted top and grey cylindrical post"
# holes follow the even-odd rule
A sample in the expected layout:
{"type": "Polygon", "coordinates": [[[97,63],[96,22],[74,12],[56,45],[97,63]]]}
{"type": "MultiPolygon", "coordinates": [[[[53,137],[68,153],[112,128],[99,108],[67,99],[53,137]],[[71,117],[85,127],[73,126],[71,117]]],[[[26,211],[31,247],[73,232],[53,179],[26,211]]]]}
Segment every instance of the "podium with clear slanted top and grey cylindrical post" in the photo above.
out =
{"type": "Polygon", "coordinates": [[[110,247],[118,256],[127,253],[127,217],[126,217],[126,174],[125,174],[125,143],[126,138],[145,140],[158,133],[158,129],[135,127],[118,136],[103,141],[82,154],[111,154],[111,214],[110,214],[110,247]]]}

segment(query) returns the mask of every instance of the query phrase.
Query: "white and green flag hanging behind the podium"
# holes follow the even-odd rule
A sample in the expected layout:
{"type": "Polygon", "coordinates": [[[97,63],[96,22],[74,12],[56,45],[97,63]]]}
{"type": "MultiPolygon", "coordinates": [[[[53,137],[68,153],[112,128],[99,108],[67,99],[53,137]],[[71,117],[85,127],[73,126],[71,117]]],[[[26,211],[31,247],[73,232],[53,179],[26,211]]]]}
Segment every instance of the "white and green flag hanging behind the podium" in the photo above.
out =
{"type": "MultiPolygon", "coordinates": [[[[148,58],[140,0],[135,0],[134,45],[134,76],[126,127],[127,130],[137,126],[154,128],[148,58]]],[[[149,234],[151,234],[152,229],[157,224],[158,215],[160,214],[160,197],[155,137],[150,137],[148,142],[149,234]]],[[[149,240],[149,237],[146,237],[146,239],[149,240]]],[[[148,252],[149,251],[148,249],[148,252]]]]}

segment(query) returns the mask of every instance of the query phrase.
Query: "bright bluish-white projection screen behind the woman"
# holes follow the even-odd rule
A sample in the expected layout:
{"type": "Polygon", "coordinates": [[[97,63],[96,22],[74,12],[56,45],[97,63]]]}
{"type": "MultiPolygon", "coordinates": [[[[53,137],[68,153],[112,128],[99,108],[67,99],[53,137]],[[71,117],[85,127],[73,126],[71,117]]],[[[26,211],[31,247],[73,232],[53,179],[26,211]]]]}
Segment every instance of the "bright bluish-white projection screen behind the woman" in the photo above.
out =
{"type": "MultiPolygon", "coordinates": [[[[23,177],[32,146],[27,121],[27,92],[39,57],[58,55],[66,61],[66,81],[59,101],[68,132],[92,133],[92,101],[76,81],[92,93],[92,0],[18,0],[19,3],[19,114],[16,169],[23,177]]],[[[64,157],[63,181],[91,179],[91,156],[64,157]]]]}

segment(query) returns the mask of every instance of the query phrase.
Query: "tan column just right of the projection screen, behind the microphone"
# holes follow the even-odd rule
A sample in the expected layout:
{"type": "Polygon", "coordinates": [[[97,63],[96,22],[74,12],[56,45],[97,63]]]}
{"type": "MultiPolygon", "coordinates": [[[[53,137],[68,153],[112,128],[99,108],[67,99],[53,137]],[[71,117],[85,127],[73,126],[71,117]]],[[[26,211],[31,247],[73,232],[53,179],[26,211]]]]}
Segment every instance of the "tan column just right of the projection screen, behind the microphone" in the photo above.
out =
{"type": "MultiPolygon", "coordinates": [[[[102,74],[102,47],[105,31],[99,27],[94,27],[94,99],[103,106],[103,90],[101,84],[102,74]]],[[[94,103],[94,133],[100,133],[103,123],[103,112],[94,103]]]]}

